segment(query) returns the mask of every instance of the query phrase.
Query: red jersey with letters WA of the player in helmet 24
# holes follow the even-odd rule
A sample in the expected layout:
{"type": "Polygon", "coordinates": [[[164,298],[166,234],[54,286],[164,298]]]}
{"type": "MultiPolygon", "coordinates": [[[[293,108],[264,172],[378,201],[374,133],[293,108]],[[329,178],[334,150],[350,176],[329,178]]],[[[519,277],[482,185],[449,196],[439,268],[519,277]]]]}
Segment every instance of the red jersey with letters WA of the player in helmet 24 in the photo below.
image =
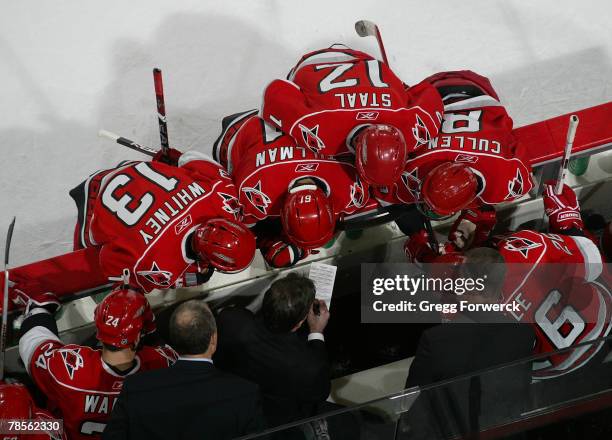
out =
{"type": "Polygon", "coordinates": [[[102,360],[100,350],[63,344],[43,326],[21,337],[19,352],[32,380],[47,396],[49,410],[64,419],[72,440],[101,438],[127,376],[168,367],[178,358],[168,346],[144,347],[136,355],[136,365],[120,374],[102,360]]]}

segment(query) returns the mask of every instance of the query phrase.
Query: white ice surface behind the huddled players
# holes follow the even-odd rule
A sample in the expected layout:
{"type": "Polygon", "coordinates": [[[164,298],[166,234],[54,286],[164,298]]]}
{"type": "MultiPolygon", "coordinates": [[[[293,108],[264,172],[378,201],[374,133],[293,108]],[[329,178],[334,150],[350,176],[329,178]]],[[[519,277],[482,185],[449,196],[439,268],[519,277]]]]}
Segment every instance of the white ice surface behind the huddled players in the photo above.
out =
{"type": "Polygon", "coordinates": [[[367,18],[406,82],[475,70],[523,125],[612,100],[610,16],[605,0],[4,2],[0,237],[17,215],[14,264],[70,250],[68,190],[142,158],[98,129],[158,144],[154,66],[171,143],[208,151],[221,118],[257,106],[303,52],[334,42],[375,51],[353,30],[367,18]]]}

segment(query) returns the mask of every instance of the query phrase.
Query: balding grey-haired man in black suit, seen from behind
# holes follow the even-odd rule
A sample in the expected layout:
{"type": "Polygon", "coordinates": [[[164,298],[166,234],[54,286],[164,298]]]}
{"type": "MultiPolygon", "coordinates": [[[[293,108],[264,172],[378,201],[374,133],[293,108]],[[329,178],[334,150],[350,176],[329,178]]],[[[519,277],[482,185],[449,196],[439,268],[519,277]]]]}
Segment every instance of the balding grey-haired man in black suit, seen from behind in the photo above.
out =
{"type": "Polygon", "coordinates": [[[179,360],[129,377],[104,439],[232,439],[263,428],[257,385],[218,370],[215,319],[203,301],[181,304],[169,323],[179,360]]]}

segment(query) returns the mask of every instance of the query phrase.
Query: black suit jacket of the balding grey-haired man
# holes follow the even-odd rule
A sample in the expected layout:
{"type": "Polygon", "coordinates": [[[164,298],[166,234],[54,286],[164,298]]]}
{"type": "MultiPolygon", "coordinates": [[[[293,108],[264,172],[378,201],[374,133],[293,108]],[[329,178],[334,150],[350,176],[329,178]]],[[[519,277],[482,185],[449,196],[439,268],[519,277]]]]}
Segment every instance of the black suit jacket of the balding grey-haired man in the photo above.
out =
{"type": "Polygon", "coordinates": [[[257,385],[209,362],[130,376],[103,439],[232,439],[264,425],[257,385]]]}

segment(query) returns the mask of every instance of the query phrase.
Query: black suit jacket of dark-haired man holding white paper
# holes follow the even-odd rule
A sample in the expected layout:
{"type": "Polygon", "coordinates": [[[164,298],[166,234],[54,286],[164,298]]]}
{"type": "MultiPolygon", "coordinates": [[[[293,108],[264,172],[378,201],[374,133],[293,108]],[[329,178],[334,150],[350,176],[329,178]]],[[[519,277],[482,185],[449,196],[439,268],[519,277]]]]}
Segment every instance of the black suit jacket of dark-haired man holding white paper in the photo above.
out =
{"type": "Polygon", "coordinates": [[[317,412],[330,392],[325,343],[297,333],[273,333],[260,316],[243,308],[217,317],[215,363],[259,385],[270,426],[317,412]]]}

